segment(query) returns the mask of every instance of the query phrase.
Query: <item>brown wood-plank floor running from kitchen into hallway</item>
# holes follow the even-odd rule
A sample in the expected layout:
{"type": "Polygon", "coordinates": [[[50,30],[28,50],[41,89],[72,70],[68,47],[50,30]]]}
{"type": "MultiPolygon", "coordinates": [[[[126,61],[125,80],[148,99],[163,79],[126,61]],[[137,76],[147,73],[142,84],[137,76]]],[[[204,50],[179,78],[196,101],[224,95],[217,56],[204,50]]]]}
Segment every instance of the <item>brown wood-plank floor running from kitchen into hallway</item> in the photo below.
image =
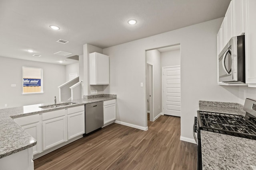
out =
{"type": "Polygon", "coordinates": [[[35,170],[196,170],[196,144],[180,141],[180,117],[148,131],[113,123],[34,160],[35,170]]]}

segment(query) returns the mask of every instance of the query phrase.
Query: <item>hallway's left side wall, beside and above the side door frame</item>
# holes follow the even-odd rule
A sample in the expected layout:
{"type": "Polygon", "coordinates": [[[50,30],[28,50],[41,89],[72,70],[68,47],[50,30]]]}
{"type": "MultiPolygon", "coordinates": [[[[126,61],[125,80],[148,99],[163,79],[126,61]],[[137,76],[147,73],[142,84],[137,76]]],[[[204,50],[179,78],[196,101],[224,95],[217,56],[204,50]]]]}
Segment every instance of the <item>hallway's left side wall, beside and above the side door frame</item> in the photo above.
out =
{"type": "Polygon", "coordinates": [[[150,50],[146,52],[147,62],[153,65],[153,86],[154,86],[154,115],[156,118],[157,115],[161,113],[161,89],[162,89],[162,67],[161,67],[161,55],[158,50],[150,50]],[[160,107],[160,108],[159,108],[160,107]]]}

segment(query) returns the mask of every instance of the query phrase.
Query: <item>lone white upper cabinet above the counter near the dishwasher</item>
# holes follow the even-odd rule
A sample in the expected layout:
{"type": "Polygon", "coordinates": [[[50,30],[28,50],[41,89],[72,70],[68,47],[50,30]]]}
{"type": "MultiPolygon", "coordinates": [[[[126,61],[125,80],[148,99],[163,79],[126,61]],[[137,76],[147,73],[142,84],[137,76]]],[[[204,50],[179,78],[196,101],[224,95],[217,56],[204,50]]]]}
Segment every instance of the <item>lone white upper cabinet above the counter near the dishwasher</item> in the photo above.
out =
{"type": "Polygon", "coordinates": [[[109,56],[90,53],[90,85],[109,84],[109,56]]]}

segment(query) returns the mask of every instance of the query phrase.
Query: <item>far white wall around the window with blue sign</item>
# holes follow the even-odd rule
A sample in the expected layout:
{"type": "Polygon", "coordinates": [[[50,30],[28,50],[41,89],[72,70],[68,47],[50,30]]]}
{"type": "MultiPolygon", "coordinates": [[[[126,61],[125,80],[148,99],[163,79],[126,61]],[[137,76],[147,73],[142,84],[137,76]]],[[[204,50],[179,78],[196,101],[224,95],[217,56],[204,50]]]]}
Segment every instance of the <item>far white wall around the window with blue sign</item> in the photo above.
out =
{"type": "Polygon", "coordinates": [[[65,66],[0,57],[0,109],[59,101],[58,86],[65,82],[65,66]],[[43,69],[44,94],[22,95],[22,66],[43,69]],[[16,84],[16,87],[11,87],[16,84]]]}

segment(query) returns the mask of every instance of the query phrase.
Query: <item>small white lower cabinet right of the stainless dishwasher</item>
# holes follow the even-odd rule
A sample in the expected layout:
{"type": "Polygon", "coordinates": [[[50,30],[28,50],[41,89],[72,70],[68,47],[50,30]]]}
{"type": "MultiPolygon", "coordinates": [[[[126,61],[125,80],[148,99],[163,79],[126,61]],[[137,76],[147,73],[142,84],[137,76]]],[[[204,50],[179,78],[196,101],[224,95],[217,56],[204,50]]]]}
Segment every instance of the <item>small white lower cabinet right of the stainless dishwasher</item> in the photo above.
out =
{"type": "Polygon", "coordinates": [[[104,125],[116,120],[116,99],[103,102],[104,125]]]}

